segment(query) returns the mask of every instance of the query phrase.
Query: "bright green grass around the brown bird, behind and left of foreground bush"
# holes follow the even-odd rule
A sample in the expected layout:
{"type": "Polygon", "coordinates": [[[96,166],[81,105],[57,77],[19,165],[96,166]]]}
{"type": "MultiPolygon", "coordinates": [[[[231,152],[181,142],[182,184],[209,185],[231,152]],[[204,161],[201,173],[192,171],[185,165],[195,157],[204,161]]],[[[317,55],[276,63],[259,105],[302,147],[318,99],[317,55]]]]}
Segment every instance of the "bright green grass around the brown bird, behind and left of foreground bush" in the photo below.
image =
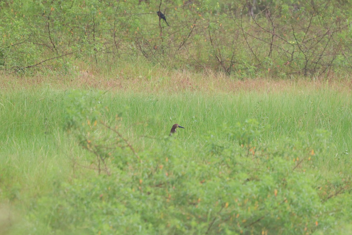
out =
{"type": "MultiPolygon", "coordinates": [[[[266,89],[238,89],[236,92],[183,89],[175,93],[163,92],[162,89],[151,93],[133,89],[112,90],[99,100],[108,107],[103,114],[107,122],[113,122],[115,115],[124,111],[120,119],[121,131],[141,154],[150,149],[159,149],[168,156],[168,150],[165,150],[168,143],[163,141],[164,137],[168,136],[174,123],[184,126],[186,129],[178,129],[175,140],[180,147],[177,151],[181,165],[187,163],[196,167],[200,164],[201,167],[201,162],[212,161],[213,156],[207,150],[211,138],[221,146],[236,146],[228,137],[228,129],[253,118],[258,120],[259,126],[265,127],[258,141],[263,146],[280,148],[285,146],[287,138],[300,141],[301,131],[307,132],[308,142],[314,144],[316,129],[327,130],[331,133],[328,138],[331,148],[323,151],[319,160],[314,162],[314,174],[330,179],[332,175],[351,169],[350,91],[331,89],[329,86],[304,87],[294,82],[288,84],[288,88],[274,92],[266,89]]],[[[68,87],[41,85],[24,89],[7,88],[0,96],[0,206],[7,208],[10,205],[6,211],[10,217],[17,217],[13,223],[21,224],[19,227],[24,230],[37,230],[36,234],[75,234],[74,231],[79,233],[78,230],[82,234],[90,234],[93,231],[62,225],[64,217],[56,217],[54,212],[51,214],[43,206],[45,203],[55,204],[49,199],[50,196],[45,199],[47,195],[65,200],[60,193],[56,193],[57,190],[61,192],[61,185],[84,188],[84,182],[92,181],[97,175],[94,170],[74,165],[78,162],[89,166],[94,158],[64,130],[65,111],[70,104],[69,91],[68,87]],[[52,218],[49,218],[50,215],[52,218]],[[60,230],[61,227],[63,230],[60,230]]],[[[92,97],[88,103],[94,103],[95,90],[88,94],[92,97]]],[[[288,159],[292,157],[288,156],[288,159]]],[[[113,162],[110,164],[113,168],[113,162]]],[[[186,169],[188,167],[184,171],[186,169]]],[[[94,188],[87,192],[92,190],[94,188]]],[[[88,217],[92,219],[93,215],[88,217]]],[[[350,222],[347,214],[338,218],[342,224],[350,222]]],[[[84,222],[79,224],[89,227],[84,222]]],[[[21,234],[23,230],[16,227],[8,225],[6,219],[0,221],[0,232],[21,234]],[[1,224],[5,225],[1,227],[1,224]]],[[[342,226],[342,229],[348,230],[348,227],[342,226]]],[[[191,233],[190,230],[188,232],[191,233]]]]}

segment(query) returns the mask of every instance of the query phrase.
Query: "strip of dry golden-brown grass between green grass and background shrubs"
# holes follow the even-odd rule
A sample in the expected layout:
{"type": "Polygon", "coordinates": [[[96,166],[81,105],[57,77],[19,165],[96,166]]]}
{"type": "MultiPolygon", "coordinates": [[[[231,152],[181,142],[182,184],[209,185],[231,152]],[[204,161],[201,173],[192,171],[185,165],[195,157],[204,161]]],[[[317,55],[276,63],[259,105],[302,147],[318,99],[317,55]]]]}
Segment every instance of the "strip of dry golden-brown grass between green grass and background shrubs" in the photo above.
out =
{"type": "Polygon", "coordinates": [[[66,75],[36,74],[16,75],[0,74],[0,88],[18,89],[49,86],[53,89],[111,89],[112,92],[285,92],[309,91],[315,89],[336,89],[350,92],[350,78],[335,78],[333,76],[318,79],[237,79],[225,74],[207,71],[194,73],[190,70],[170,70],[159,67],[147,67],[140,64],[122,64],[119,68],[97,69],[80,64],[80,71],[66,75]]]}

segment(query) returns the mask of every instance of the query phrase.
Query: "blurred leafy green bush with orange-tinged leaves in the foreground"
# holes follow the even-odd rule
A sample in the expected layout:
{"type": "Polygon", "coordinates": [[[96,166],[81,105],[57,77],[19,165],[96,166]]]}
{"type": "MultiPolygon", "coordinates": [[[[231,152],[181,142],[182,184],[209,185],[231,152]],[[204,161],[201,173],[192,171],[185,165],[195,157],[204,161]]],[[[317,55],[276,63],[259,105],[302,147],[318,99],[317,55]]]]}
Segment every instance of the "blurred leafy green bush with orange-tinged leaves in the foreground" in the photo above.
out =
{"type": "MultiPolygon", "coordinates": [[[[119,119],[106,120],[104,105],[87,104],[85,95],[72,95],[68,127],[88,150],[81,140],[90,137],[101,151],[95,156],[105,149],[109,175],[73,179],[39,199],[51,214],[43,227],[56,234],[313,234],[351,218],[344,209],[352,206],[351,176],[322,177],[314,167],[329,147],[326,131],[310,142],[301,133],[300,141],[265,145],[265,129],[248,120],[224,127],[228,141],[204,136],[196,156],[178,138],[161,138],[136,157],[113,144],[121,137],[110,126],[119,119]]],[[[43,218],[40,211],[29,216],[43,218]]]]}

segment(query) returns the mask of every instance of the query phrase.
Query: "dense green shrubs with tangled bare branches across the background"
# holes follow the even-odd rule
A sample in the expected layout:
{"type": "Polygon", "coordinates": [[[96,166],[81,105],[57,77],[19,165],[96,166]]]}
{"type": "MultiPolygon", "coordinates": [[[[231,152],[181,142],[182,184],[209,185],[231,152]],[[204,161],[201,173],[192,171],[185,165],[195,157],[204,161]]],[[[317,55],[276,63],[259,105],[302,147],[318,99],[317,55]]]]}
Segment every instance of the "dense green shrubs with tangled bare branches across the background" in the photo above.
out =
{"type": "Polygon", "coordinates": [[[239,76],[351,72],[351,9],[326,0],[1,1],[0,66],[74,72],[80,60],[143,56],[239,76]]]}

